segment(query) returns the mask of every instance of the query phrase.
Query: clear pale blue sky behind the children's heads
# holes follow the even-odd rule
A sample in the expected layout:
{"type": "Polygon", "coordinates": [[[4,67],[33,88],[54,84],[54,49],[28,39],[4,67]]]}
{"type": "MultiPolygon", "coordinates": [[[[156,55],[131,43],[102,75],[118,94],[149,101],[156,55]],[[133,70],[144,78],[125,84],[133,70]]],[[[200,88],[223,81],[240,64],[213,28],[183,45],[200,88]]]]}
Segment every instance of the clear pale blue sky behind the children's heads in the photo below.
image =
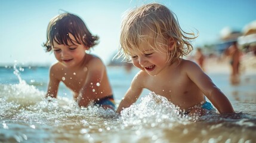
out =
{"type": "Polygon", "coordinates": [[[91,33],[100,36],[100,44],[91,54],[109,63],[119,47],[122,15],[130,8],[150,2],[170,8],[183,30],[197,29],[199,37],[193,43],[195,46],[217,42],[224,27],[242,30],[256,20],[256,0],[0,0],[0,65],[14,61],[53,64],[54,54],[44,52],[42,43],[46,40],[48,22],[60,10],[79,15],[91,33]]]}

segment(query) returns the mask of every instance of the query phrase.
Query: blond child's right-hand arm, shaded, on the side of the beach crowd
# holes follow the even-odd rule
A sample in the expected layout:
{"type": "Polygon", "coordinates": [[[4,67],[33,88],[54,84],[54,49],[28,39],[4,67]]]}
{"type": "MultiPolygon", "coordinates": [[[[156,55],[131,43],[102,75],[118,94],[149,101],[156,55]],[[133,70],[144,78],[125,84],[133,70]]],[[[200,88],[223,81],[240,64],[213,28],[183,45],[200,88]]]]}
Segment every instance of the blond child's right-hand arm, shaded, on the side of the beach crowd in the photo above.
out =
{"type": "Polygon", "coordinates": [[[201,68],[190,61],[186,64],[187,76],[201,89],[203,94],[212,102],[220,113],[234,113],[228,98],[220,91],[201,68]]]}

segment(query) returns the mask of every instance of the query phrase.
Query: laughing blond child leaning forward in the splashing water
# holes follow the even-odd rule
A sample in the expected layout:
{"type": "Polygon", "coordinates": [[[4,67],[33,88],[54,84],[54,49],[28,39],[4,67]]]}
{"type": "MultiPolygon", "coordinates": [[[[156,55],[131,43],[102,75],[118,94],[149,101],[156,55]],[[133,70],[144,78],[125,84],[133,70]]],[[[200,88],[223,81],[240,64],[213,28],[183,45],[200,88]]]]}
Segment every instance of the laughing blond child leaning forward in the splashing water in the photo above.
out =
{"type": "Polygon", "coordinates": [[[117,113],[137,101],[144,88],[161,95],[177,105],[184,114],[213,110],[233,113],[227,97],[202,69],[182,57],[193,46],[193,33],[184,32],[172,11],[161,4],[146,4],[129,11],[121,27],[119,57],[138,67],[117,113]]]}

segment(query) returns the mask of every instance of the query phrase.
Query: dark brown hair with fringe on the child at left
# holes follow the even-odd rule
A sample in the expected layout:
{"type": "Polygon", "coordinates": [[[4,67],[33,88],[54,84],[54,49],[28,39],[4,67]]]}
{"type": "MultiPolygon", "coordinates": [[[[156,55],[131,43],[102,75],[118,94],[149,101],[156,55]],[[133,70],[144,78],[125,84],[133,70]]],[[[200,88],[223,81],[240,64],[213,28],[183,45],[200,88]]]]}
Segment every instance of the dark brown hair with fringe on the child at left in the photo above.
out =
{"type": "Polygon", "coordinates": [[[53,17],[48,24],[47,42],[44,43],[46,51],[53,49],[53,41],[64,45],[67,45],[67,41],[72,42],[69,33],[75,37],[76,42],[88,48],[98,43],[98,36],[91,34],[80,17],[70,13],[63,13],[53,17]]]}

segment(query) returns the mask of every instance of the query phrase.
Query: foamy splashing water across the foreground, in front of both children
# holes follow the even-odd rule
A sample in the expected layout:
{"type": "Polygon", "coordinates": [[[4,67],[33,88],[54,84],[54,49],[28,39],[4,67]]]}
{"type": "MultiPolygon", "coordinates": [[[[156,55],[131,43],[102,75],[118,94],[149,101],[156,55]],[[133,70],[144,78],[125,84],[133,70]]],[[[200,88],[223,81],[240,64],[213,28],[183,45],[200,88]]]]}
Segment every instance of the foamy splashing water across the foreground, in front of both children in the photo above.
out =
{"type": "Polygon", "coordinates": [[[153,92],[116,117],[112,110],[79,108],[64,97],[48,102],[20,78],[22,68],[15,69],[20,83],[0,84],[3,142],[255,142],[255,117],[208,115],[195,122],[153,92]]]}

